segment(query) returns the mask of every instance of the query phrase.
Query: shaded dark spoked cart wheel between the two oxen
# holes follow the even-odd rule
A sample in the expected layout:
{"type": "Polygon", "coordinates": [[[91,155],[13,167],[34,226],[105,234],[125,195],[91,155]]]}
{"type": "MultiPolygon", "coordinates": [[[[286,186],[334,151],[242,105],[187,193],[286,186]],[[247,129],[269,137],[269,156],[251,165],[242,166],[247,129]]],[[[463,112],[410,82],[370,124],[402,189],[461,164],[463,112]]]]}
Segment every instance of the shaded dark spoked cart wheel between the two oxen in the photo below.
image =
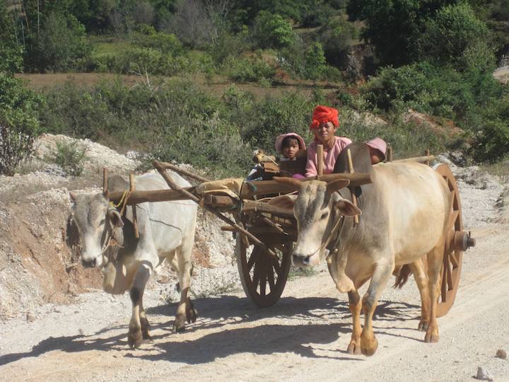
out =
{"type": "Polygon", "coordinates": [[[278,245],[268,245],[279,255],[274,259],[257,245],[246,246],[240,234],[237,235],[235,254],[246,296],[257,306],[272,306],[283,293],[290,271],[291,241],[278,245]]]}

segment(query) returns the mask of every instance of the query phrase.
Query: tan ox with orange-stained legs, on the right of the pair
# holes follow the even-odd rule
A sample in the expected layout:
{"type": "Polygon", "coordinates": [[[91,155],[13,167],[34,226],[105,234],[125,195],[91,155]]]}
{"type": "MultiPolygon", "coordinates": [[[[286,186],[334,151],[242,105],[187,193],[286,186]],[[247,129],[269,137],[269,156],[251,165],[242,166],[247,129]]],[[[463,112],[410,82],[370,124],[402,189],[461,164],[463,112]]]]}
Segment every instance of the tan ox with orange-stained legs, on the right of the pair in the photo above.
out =
{"type": "Polygon", "coordinates": [[[421,163],[382,163],[373,166],[371,178],[373,183],[362,186],[358,208],[345,199],[349,196],[344,188],[347,180],[327,185],[318,180],[279,179],[299,189],[293,207],[298,223],[293,263],[316,265],[329,254],[329,273],[337,289],[348,292],[353,318],[348,347],[351,354],[376,352],[373,313],[394,267],[404,264],[414,271],[421,291],[423,317],[419,327],[427,326],[425,341],[438,341],[436,311],[450,191],[435,170],[421,163]],[[341,224],[341,216],[361,211],[358,225],[353,219],[342,219],[341,224]],[[428,259],[428,277],[421,267],[423,255],[428,259]],[[368,279],[370,284],[361,301],[358,289],[368,279]],[[423,325],[423,320],[429,322],[423,325]]]}

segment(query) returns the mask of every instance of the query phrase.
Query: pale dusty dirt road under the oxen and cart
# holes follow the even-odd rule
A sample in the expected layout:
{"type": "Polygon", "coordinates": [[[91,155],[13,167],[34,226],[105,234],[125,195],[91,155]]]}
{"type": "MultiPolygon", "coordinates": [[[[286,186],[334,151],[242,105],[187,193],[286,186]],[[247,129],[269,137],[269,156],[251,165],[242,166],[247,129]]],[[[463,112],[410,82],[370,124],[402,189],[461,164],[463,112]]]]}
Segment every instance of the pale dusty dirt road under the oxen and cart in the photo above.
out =
{"type": "Polygon", "coordinates": [[[0,324],[3,381],[472,381],[484,366],[509,381],[509,226],[493,216],[499,189],[462,184],[465,226],[477,246],[464,254],[455,305],[426,344],[414,282],[387,288],[376,311],[378,352],[351,356],[346,295],[324,269],[288,282],[281,300],[257,309],[242,292],[196,301],[199,319],[171,332],[175,306],[148,291],[153,340],[127,346],[130,302],[101,292],[37,319],[0,324]],[[491,192],[491,193],[490,193],[491,192]],[[492,195],[493,194],[493,195],[492,195]]]}

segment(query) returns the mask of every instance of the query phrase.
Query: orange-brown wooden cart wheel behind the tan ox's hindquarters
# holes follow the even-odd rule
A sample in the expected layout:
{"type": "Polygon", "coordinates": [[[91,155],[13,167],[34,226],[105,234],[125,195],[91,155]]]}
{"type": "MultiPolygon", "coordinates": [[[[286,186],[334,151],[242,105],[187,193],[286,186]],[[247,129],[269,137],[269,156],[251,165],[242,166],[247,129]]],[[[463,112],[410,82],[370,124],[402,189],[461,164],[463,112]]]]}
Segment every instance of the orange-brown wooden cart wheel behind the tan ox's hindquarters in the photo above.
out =
{"type": "Polygon", "coordinates": [[[454,303],[458,284],[460,284],[463,251],[458,249],[458,246],[450,239],[455,237],[455,233],[463,232],[463,220],[460,192],[449,166],[440,164],[434,168],[447,182],[452,199],[452,207],[447,223],[449,239],[446,240],[444,248],[443,267],[440,273],[440,296],[438,297],[437,308],[437,317],[442,317],[447,314],[452,303],[454,303]]]}

